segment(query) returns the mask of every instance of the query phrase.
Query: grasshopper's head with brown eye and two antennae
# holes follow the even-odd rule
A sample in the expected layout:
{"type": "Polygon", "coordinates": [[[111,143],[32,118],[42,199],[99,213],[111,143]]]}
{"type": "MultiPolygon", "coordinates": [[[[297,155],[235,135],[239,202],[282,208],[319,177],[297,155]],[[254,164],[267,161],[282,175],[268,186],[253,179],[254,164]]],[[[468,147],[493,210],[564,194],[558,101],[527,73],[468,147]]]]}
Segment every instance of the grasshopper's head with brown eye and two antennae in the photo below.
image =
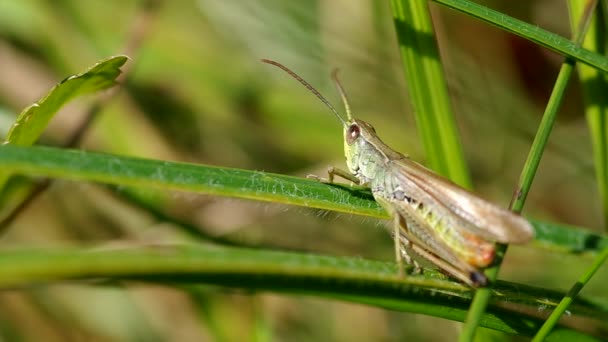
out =
{"type": "Polygon", "coordinates": [[[372,127],[372,125],[368,124],[367,122],[354,119],[352,117],[346,92],[344,91],[342,85],[340,84],[340,81],[338,80],[338,70],[335,69],[332,72],[332,78],[336,84],[336,87],[338,88],[338,92],[340,93],[342,102],[344,102],[346,118],[343,118],[334,108],[334,106],[332,106],[331,103],[329,103],[329,101],[327,101],[327,99],[325,99],[325,97],[321,95],[321,93],[319,93],[313,86],[311,86],[308,82],[298,76],[295,72],[291,71],[289,68],[279,62],[267,59],[262,59],[262,62],[272,64],[283,69],[293,78],[302,83],[313,94],[315,94],[336,115],[338,120],[340,120],[340,122],[342,123],[344,131],[344,155],[346,156],[346,164],[348,166],[348,170],[352,174],[356,174],[359,170],[360,157],[365,153],[363,149],[366,148],[366,141],[368,137],[375,136],[376,131],[374,127],[372,127]]]}

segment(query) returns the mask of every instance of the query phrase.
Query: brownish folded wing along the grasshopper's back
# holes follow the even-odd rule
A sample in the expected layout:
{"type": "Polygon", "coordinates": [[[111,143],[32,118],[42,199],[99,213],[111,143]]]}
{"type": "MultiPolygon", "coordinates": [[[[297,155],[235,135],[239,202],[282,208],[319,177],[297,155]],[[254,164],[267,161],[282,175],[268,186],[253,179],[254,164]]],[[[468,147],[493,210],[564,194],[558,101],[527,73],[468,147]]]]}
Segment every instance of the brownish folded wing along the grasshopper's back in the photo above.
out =
{"type": "Polygon", "coordinates": [[[399,159],[392,163],[393,175],[405,184],[415,185],[414,192],[455,226],[500,243],[526,243],[534,237],[532,226],[521,216],[477,197],[414,161],[399,159]]]}

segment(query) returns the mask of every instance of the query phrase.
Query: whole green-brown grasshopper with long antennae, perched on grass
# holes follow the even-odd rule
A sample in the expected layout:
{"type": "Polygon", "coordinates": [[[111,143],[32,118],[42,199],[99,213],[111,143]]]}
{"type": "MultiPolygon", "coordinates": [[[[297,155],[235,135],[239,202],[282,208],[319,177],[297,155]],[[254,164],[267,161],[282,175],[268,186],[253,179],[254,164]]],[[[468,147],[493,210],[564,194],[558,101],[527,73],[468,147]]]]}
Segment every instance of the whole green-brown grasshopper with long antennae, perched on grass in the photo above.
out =
{"type": "Polygon", "coordinates": [[[393,150],[369,123],[353,118],[346,92],[333,81],[344,103],[346,119],[315,88],[284,65],[262,60],[286,71],[316,95],[340,120],[348,171],[330,167],[335,176],[371,189],[374,199],[393,218],[395,257],[399,274],[408,250],[471,287],[488,285],[483,269],[496,255],[496,243],[524,244],[534,237],[532,226],[521,216],[500,208],[461,188],[407,156],[393,150]]]}

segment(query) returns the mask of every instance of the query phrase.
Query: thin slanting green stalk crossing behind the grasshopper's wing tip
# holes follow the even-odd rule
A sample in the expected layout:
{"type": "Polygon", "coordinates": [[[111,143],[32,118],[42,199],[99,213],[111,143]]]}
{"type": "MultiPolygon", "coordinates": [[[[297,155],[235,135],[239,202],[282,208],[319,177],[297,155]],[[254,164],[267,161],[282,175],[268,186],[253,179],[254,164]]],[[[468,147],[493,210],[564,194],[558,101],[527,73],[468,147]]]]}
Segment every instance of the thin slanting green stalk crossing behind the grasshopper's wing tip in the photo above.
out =
{"type": "MultiPolygon", "coordinates": [[[[587,2],[587,11],[585,11],[583,14],[581,25],[579,25],[574,39],[577,44],[580,44],[582,42],[582,38],[585,36],[587,28],[589,27],[591,14],[593,13],[593,9],[595,8],[596,4],[596,0],[587,2]]],[[[526,163],[524,164],[517,189],[514,193],[513,200],[511,201],[510,208],[514,212],[520,213],[523,209],[524,203],[530,191],[530,187],[532,186],[532,181],[534,180],[538,165],[540,164],[540,160],[545,150],[545,146],[549,140],[549,135],[551,134],[553,124],[555,123],[557,112],[564,98],[568,81],[574,72],[575,64],[576,61],[574,59],[566,58],[559,71],[551,97],[547,103],[547,108],[545,109],[540,126],[536,136],[534,137],[534,142],[530,148],[530,152],[528,154],[526,163]]],[[[486,275],[490,281],[495,281],[498,276],[502,256],[506,252],[507,246],[501,245],[497,249],[496,266],[486,270],[486,275]]],[[[460,341],[473,341],[477,326],[479,325],[479,321],[481,320],[485,308],[488,305],[491,294],[492,292],[489,288],[479,289],[475,293],[475,297],[473,298],[471,308],[467,314],[467,319],[465,321],[462,333],[459,337],[460,341]]]]}

